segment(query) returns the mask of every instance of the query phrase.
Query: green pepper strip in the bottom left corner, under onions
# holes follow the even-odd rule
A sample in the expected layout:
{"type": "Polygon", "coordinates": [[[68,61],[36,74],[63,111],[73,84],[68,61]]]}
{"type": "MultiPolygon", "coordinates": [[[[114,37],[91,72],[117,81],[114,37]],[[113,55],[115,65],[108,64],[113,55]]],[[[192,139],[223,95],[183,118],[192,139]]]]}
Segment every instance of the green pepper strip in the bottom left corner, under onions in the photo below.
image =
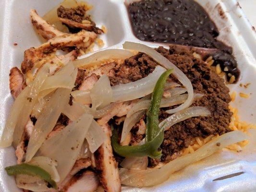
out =
{"type": "Polygon", "coordinates": [[[19,174],[38,176],[41,179],[47,181],[52,187],[54,187],[54,189],[57,189],[57,184],[54,180],[52,180],[51,175],[46,170],[38,166],[22,163],[19,165],[6,167],[5,170],[10,176],[19,174]]]}

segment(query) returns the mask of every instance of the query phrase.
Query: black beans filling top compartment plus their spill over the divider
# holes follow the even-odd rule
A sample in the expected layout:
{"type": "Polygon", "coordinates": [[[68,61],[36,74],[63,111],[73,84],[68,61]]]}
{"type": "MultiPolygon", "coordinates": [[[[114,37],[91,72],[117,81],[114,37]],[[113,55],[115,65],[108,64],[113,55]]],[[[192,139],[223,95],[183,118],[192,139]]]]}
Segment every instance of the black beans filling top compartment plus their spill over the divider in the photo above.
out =
{"type": "Polygon", "coordinates": [[[140,0],[129,4],[127,9],[138,39],[209,48],[206,57],[213,56],[213,65],[220,64],[228,80],[232,75],[238,80],[240,71],[232,48],[216,39],[219,35],[216,25],[194,0],[140,0]]]}

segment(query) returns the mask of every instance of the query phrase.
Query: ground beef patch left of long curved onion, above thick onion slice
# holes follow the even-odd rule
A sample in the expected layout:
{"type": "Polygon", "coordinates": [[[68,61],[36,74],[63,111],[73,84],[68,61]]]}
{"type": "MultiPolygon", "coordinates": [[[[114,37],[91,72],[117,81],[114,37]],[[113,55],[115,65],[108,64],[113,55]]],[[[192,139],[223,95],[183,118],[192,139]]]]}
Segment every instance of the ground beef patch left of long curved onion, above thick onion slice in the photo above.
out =
{"type": "Polygon", "coordinates": [[[127,84],[146,77],[153,72],[157,63],[145,53],[138,53],[126,60],[122,65],[116,66],[110,76],[111,86],[127,84]]]}

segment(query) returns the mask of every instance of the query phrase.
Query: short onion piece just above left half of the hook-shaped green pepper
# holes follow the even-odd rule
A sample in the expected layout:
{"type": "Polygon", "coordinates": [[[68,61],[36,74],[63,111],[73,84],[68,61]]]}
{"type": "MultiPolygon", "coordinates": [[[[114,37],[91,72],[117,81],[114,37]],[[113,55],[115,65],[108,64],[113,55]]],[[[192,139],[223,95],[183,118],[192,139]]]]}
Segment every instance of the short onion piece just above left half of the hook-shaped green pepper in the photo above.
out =
{"type": "Polygon", "coordinates": [[[132,114],[130,117],[126,116],[123,122],[122,136],[120,141],[121,143],[125,140],[125,138],[127,137],[128,133],[131,131],[135,123],[142,119],[143,115],[145,114],[145,111],[146,110],[140,110],[132,114]]]}

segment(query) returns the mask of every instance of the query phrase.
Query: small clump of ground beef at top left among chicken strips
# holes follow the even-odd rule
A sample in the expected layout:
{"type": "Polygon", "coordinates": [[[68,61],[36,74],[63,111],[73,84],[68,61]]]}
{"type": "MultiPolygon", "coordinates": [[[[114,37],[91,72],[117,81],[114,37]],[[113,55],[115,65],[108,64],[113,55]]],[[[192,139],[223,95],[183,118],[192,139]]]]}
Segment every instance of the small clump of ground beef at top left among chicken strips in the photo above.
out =
{"type": "Polygon", "coordinates": [[[65,8],[62,5],[57,9],[58,17],[70,19],[77,23],[82,23],[85,17],[85,6],[77,6],[76,8],[65,8]]]}

